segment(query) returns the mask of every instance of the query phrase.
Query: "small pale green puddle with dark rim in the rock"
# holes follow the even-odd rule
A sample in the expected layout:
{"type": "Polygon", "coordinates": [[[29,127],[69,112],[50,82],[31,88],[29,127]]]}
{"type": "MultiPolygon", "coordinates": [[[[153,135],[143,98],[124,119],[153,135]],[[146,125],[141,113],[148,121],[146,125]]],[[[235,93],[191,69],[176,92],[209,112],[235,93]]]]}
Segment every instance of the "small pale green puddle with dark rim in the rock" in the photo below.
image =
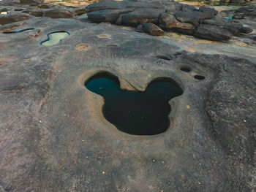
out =
{"type": "Polygon", "coordinates": [[[70,34],[67,31],[54,31],[47,35],[47,39],[41,42],[41,45],[49,46],[56,45],[61,42],[62,39],[68,37],[70,34]]]}

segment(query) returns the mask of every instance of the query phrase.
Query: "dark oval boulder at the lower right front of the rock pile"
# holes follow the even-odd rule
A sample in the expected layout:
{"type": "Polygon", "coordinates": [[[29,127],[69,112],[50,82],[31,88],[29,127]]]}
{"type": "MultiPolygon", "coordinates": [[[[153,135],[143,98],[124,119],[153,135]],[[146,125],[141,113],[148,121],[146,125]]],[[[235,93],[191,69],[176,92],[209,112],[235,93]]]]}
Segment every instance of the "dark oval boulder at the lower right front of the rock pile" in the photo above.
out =
{"type": "Polygon", "coordinates": [[[224,28],[206,24],[200,24],[197,26],[193,34],[195,37],[213,41],[227,41],[232,37],[232,34],[224,28]]]}

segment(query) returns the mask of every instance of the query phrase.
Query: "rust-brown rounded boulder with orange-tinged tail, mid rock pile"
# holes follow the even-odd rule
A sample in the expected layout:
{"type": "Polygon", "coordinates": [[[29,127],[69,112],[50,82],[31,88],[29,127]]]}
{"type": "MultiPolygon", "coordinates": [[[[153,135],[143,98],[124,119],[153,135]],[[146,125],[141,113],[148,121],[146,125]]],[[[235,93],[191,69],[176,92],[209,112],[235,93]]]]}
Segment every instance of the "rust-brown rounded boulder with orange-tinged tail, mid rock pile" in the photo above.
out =
{"type": "Polygon", "coordinates": [[[185,30],[194,30],[195,26],[190,23],[181,23],[173,15],[168,13],[162,13],[159,17],[159,26],[165,28],[167,31],[172,30],[173,28],[181,28],[185,30]]]}

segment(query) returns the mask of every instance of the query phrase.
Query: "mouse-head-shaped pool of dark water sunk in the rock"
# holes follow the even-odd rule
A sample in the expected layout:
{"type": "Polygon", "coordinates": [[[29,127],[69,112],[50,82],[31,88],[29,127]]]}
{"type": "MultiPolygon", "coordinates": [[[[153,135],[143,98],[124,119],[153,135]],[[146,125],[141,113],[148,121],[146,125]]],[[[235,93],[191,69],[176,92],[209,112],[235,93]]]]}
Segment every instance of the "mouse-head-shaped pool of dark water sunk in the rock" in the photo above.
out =
{"type": "Polygon", "coordinates": [[[109,73],[96,74],[85,82],[89,91],[104,98],[106,120],[127,134],[154,135],[170,126],[170,99],[183,91],[170,78],[150,82],[146,91],[121,90],[118,78],[109,73]]]}

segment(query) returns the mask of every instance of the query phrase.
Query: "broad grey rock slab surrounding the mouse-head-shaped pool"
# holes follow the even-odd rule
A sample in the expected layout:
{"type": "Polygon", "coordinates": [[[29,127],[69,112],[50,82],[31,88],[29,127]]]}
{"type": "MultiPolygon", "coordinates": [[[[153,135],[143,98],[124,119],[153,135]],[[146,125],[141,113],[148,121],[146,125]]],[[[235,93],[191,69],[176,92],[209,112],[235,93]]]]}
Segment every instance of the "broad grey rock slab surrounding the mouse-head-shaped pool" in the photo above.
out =
{"type": "MultiPolygon", "coordinates": [[[[22,8],[3,4],[9,13],[22,8]]],[[[241,23],[256,29],[254,18],[241,23]]],[[[217,28],[195,28],[202,26],[217,28]]],[[[254,192],[254,41],[255,31],[229,42],[151,37],[86,15],[0,26],[0,191],[254,192]],[[34,30],[3,33],[22,28],[34,30]],[[53,31],[70,35],[40,45],[53,31]],[[102,97],[84,86],[102,71],[127,90],[143,91],[157,77],[181,85],[170,128],[132,136],[106,121],[102,97]]]]}

